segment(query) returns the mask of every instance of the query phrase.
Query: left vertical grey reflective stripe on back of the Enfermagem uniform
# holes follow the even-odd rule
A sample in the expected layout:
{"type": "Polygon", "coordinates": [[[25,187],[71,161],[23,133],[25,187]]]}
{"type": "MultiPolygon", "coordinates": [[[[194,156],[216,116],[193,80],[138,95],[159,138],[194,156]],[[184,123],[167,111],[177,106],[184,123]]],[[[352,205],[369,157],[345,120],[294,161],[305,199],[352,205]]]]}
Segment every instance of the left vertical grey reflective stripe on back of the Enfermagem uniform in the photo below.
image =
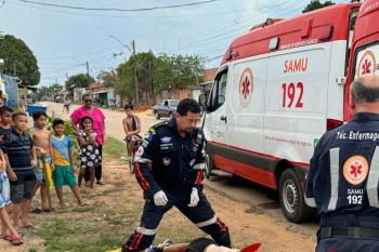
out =
{"type": "Polygon", "coordinates": [[[330,200],[328,210],[336,210],[338,201],[340,148],[329,150],[330,156],[330,200]]]}

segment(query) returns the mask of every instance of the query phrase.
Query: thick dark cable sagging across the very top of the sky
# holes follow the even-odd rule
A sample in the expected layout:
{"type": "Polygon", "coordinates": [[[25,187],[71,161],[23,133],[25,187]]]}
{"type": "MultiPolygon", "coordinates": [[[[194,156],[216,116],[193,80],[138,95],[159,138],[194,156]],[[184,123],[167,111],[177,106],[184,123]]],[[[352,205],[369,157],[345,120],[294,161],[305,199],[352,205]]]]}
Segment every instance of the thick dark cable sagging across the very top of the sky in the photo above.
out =
{"type": "Polygon", "coordinates": [[[151,6],[151,8],[140,8],[140,9],[84,8],[84,6],[76,6],[76,5],[64,5],[64,4],[55,4],[55,3],[47,3],[47,2],[37,2],[37,1],[29,1],[29,0],[17,0],[17,1],[24,2],[24,3],[31,3],[35,5],[52,6],[52,8],[60,8],[60,9],[81,10],[81,11],[144,12],[144,11],[155,11],[155,10],[165,10],[165,9],[177,9],[177,8],[183,8],[183,6],[194,6],[194,5],[200,5],[200,4],[215,2],[219,0],[206,0],[206,1],[190,2],[190,3],[182,3],[182,4],[160,5],[160,6],[151,6]]]}

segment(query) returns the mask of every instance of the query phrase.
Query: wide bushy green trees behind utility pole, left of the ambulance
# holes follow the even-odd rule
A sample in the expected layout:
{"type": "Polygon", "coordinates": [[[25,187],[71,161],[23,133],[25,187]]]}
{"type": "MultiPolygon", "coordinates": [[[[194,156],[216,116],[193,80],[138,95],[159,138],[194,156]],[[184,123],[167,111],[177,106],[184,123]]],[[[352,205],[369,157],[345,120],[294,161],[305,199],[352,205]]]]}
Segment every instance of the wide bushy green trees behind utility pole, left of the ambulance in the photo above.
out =
{"type": "MultiPolygon", "coordinates": [[[[185,89],[201,82],[205,58],[199,55],[154,55],[152,52],[138,53],[138,80],[140,96],[148,93],[151,101],[154,94],[162,90],[185,89]]],[[[119,81],[115,92],[129,101],[134,97],[133,82],[134,56],[120,64],[116,71],[119,81]]]]}

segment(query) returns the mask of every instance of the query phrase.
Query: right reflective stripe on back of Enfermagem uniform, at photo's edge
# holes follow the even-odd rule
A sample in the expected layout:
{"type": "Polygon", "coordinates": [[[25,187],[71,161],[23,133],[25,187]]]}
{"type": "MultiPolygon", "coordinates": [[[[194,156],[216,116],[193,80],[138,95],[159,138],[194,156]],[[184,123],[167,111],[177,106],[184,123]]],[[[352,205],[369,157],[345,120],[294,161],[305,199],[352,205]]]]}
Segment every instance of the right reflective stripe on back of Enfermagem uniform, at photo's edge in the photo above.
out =
{"type": "Polygon", "coordinates": [[[379,208],[378,202],[378,182],[379,182],[379,146],[375,148],[371,159],[369,175],[367,180],[367,197],[370,207],[379,208]]]}

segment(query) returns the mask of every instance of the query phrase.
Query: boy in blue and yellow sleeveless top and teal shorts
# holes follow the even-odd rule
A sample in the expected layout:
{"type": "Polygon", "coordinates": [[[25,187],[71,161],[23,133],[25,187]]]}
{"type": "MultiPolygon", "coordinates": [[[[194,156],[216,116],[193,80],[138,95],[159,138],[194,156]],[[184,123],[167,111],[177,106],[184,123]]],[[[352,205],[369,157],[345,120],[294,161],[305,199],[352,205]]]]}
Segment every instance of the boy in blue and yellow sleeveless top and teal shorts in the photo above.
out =
{"type": "Polygon", "coordinates": [[[63,199],[63,186],[69,185],[74,193],[78,204],[81,205],[79,187],[76,183],[75,173],[75,156],[73,142],[64,134],[64,121],[62,119],[55,119],[53,121],[54,134],[52,136],[53,146],[53,161],[55,170],[53,172],[53,181],[55,186],[56,196],[60,199],[60,205],[62,208],[67,207],[63,199]]]}

